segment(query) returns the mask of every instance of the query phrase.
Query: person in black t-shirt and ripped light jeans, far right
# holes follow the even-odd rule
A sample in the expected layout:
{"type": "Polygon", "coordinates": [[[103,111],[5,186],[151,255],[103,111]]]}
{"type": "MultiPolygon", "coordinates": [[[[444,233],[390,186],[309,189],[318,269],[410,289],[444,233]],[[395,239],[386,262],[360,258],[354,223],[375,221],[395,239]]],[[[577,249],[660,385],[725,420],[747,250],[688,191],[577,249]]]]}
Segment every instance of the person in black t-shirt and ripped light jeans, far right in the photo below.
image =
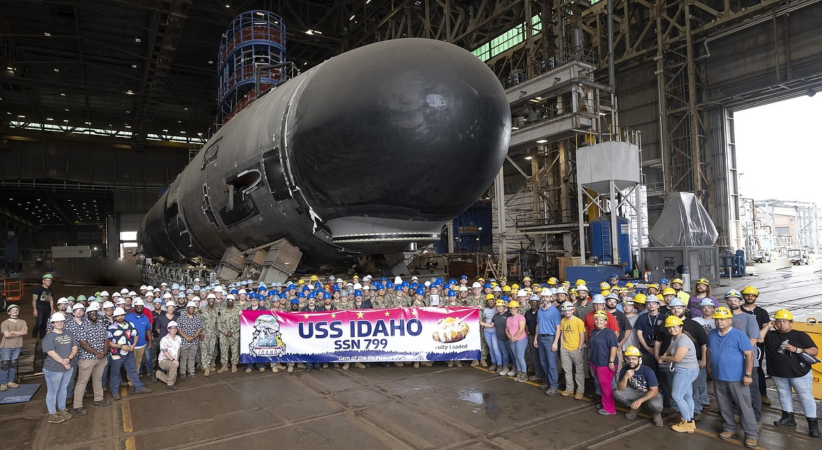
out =
{"type": "Polygon", "coordinates": [[[768,353],[768,374],[774,380],[782,406],[782,417],[774,422],[776,426],[797,426],[793,419],[791,390],[797,393],[805,417],[808,420],[808,434],[820,437],[820,425],[816,419],[816,402],[811,388],[813,374],[810,364],[802,360],[801,353],[819,355],[816,344],[804,333],[793,329],[793,315],[787,310],[774,313],[775,329],[765,335],[765,352],[768,353]]]}

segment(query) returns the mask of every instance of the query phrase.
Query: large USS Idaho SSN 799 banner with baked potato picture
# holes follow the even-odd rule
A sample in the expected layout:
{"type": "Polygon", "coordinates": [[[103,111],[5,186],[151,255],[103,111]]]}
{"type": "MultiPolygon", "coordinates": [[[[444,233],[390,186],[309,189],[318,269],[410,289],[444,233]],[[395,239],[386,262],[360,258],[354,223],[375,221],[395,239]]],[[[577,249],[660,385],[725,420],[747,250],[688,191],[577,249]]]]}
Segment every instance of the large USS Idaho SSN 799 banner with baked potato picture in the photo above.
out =
{"type": "Polygon", "coordinates": [[[478,360],[476,308],[242,311],[240,362],[478,360]]]}

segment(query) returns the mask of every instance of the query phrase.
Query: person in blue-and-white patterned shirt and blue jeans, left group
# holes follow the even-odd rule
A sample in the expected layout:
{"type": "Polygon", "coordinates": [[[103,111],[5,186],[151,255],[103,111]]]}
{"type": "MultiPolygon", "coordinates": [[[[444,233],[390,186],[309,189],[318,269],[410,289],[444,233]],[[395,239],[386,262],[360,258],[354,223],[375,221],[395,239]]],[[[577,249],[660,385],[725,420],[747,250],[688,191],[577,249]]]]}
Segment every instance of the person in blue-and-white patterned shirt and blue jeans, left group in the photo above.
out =
{"type": "Polygon", "coordinates": [[[114,323],[106,330],[109,339],[109,392],[114,400],[120,400],[120,370],[126,369],[129,379],[132,379],[136,393],[150,393],[151,389],[144,386],[137,376],[137,366],[134,360],[134,349],[137,345],[137,330],[134,325],[126,321],[126,311],[117,308],[113,312],[114,323]]]}

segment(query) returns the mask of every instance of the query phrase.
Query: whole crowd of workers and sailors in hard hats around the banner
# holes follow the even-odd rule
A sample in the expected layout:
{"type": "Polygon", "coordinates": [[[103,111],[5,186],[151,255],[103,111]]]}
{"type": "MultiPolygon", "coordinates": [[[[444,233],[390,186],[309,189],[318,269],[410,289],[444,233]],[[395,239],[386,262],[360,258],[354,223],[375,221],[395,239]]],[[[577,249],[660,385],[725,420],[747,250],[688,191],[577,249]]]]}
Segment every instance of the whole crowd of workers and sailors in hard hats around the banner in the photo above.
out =
{"type": "MultiPolygon", "coordinates": [[[[120,399],[120,388],[125,386],[150,393],[141,375],[174,390],[181,379],[237,372],[242,310],[434,306],[481,310],[481,358],[464,362],[520,383],[539,381],[549,397],[560,393],[582,400],[585,379],[590,377],[602,415],[616,414],[620,402],[630,408],[626,418],[635,419],[646,405],[653,425],[663,426],[663,408],[669,406],[681,416],[671,428],[693,433],[710,404],[708,379],[713,379],[723,422],[719,437],[731,439],[739,428],[749,448],[757,445],[762,403],[769,403],[762,370],[765,359],[783,411],[774,425],[797,425],[793,391],[804,410],[808,433],[820,437],[810,373],[818,349],[806,333],[792,329],[789,311],[778,310],[771,319],[756,305],[755,287],[728,291],[720,306],[704,278],[688,293],[679,278],[671,282],[663,278],[637,292],[630,282],[620,286],[616,274],[596,292],[590,292],[584,280],[571,283],[557,278],[539,284],[526,277],[520,286],[509,285],[506,278],[469,282],[462,276],[448,282],[442,278],[421,282],[417,277],[406,281],[354,276],[321,281],[312,275],[267,287],[250,280],[201,286],[195,278],[191,287],[162,282],[136,291],[123,288],[112,294],[102,291],[54,301],[52,279],[45,274],[32,296],[36,324],[31,333],[44,354],[52,423],[87,414],[85,396],[93,397],[95,406],[110,405],[105,387],[113,400],[120,399]],[[560,391],[561,374],[564,388],[560,391]]],[[[15,370],[22,337],[28,334],[19,306],[10,305],[8,314],[2,322],[0,391],[19,386],[14,383],[15,370]]],[[[419,367],[421,363],[393,364],[419,367]]],[[[349,363],[333,365],[350,368],[349,363]]],[[[269,365],[275,373],[292,372],[295,367],[320,371],[328,366],[269,365]]],[[[245,370],[265,371],[266,365],[252,363],[245,370]]]]}

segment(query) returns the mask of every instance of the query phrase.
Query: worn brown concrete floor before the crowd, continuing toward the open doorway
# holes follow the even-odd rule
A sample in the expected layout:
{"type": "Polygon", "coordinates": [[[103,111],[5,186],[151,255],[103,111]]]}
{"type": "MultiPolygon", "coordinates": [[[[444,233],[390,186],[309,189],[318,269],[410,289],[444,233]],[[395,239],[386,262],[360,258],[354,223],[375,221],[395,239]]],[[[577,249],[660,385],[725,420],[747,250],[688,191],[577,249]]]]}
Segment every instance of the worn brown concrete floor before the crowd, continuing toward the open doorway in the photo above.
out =
{"type": "MultiPolygon", "coordinates": [[[[822,317],[815,291],[822,286],[822,264],[791,267],[778,259],[757,264],[753,272],[758,274],[723,283],[758,287],[760,303],[771,312],[786,307],[797,319],[822,317]]],[[[719,296],[728,288],[713,292],[719,296]]],[[[44,383],[42,377],[25,381],[44,383]]],[[[171,392],[150,384],[155,393],[145,395],[123,389],[121,402],[104,407],[85,399],[87,416],[58,425],[46,422],[43,386],[31,402],[0,405],[2,448],[741,448],[739,440],[716,437],[715,411],[704,414],[697,433],[678,434],[654,427],[647,417],[600,416],[587,399],[546,397],[533,383],[480,368],[246,374],[241,366],[238,374],[200,376],[178,386],[171,392]]],[[[799,417],[796,429],[774,427],[779,412],[773,389],[769,397],[774,406],[764,407],[760,448],[820,448],[822,440],[808,437],[799,417]]]]}

